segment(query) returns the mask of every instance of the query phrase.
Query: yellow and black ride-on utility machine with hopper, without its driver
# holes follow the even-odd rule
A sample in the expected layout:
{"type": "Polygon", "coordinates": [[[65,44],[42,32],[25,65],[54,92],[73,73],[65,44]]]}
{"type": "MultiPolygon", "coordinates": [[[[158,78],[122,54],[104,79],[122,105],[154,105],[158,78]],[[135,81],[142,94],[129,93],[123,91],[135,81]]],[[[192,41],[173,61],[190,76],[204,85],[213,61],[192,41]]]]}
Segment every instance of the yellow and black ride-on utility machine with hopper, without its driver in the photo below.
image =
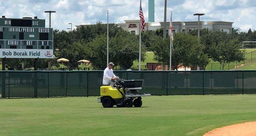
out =
{"type": "Polygon", "coordinates": [[[98,102],[103,107],[141,107],[141,97],[151,96],[150,94],[140,94],[138,90],[142,89],[143,80],[124,80],[117,78],[112,86],[100,87],[98,102]]]}

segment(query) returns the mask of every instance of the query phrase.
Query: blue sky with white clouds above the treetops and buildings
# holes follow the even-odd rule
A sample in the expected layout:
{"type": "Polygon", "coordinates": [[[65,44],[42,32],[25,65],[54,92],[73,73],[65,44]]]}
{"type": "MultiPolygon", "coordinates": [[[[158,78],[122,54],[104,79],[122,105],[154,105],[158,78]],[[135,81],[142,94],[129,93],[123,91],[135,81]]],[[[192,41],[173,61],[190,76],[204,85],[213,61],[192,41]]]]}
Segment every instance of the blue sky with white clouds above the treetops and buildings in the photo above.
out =
{"type": "MultiPolygon", "coordinates": [[[[139,19],[140,0],[0,0],[0,13],[7,18],[38,16],[46,19],[54,10],[52,27],[67,30],[80,24],[107,22],[107,9],[110,23],[124,23],[124,20],[139,19]]],[[[148,0],[142,0],[145,20],[148,21],[148,0]]],[[[256,30],[256,0],[168,0],[167,21],[170,12],[173,21],[197,21],[195,13],[204,13],[202,21],[229,21],[233,27],[247,31],[256,30]]],[[[155,22],[163,21],[164,0],[155,0],[155,22]]]]}

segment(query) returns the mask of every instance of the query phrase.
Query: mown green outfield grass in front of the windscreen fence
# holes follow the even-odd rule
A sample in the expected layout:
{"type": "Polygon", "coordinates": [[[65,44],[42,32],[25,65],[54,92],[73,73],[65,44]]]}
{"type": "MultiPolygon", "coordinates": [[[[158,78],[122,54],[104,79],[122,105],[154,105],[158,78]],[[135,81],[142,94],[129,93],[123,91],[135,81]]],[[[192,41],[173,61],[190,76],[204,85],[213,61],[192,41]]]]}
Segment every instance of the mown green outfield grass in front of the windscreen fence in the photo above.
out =
{"type": "Polygon", "coordinates": [[[202,136],[256,120],[256,95],[151,96],[140,108],[103,108],[96,98],[0,99],[0,135],[202,136]]]}

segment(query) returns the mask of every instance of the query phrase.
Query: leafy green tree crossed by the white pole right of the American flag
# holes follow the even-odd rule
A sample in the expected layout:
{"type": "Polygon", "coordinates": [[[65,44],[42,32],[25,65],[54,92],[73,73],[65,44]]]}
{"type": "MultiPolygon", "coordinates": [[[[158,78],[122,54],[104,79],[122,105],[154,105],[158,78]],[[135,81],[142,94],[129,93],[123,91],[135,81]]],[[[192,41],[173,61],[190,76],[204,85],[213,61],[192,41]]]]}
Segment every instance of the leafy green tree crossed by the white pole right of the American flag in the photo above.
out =
{"type": "MultiPolygon", "coordinates": [[[[185,33],[176,33],[173,41],[172,69],[178,69],[180,65],[192,67],[192,65],[204,66],[209,63],[209,58],[204,54],[204,46],[199,43],[197,37],[185,33]]],[[[159,36],[154,38],[152,44],[154,59],[169,65],[170,39],[159,36]]]]}

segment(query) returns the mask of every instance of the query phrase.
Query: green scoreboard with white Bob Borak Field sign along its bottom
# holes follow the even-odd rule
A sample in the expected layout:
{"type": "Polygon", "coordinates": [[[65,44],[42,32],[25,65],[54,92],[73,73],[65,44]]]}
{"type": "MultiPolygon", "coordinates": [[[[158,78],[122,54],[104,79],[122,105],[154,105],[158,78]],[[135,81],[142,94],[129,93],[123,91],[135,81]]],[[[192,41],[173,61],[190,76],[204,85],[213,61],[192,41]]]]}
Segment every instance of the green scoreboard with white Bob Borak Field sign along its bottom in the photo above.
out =
{"type": "Polygon", "coordinates": [[[53,58],[53,30],[42,19],[0,18],[0,58],[53,58]]]}

